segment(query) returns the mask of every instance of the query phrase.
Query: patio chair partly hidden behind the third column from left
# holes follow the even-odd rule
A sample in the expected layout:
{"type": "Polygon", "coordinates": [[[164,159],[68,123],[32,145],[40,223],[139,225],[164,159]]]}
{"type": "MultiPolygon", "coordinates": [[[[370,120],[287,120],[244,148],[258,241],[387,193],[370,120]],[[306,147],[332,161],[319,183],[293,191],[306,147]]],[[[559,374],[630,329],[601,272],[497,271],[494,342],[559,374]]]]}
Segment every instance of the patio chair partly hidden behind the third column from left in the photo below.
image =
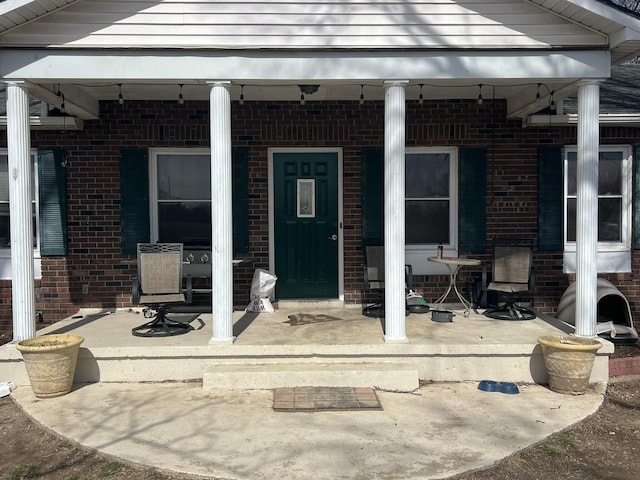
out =
{"type": "MultiPolygon", "coordinates": [[[[384,317],[384,247],[366,246],[365,247],[365,268],[364,268],[364,284],[366,289],[371,292],[377,292],[380,300],[376,303],[363,307],[362,314],[367,317],[382,318],[384,317]]],[[[406,314],[426,313],[429,306],[424,299],[413,292],[413,268],[411,265],[405,265],[405,289],[408,290],[406,301],[406,314]]]]}

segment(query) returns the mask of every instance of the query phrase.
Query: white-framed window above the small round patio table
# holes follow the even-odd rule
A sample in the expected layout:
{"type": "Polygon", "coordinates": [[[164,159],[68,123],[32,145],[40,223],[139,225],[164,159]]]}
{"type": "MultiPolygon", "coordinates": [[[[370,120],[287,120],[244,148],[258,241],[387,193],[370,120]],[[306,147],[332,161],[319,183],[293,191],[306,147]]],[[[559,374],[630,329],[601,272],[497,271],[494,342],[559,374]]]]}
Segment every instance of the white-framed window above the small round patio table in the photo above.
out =
{"type": "Polygon", "coordinates": [[[455,149],[407,149],[405,242],[456,248],[457,157],[455,149]]]}

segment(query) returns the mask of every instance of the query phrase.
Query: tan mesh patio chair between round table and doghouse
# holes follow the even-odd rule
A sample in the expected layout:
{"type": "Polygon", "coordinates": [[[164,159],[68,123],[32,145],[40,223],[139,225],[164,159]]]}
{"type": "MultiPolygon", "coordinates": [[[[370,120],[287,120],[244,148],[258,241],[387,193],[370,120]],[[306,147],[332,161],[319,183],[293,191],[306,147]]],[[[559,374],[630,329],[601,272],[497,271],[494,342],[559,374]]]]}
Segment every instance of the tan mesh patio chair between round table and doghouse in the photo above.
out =
{"type": "Polygon", "coordinates": [[[533,288],[532,248],[526,242],[497,241],[493,247],[493,267],[488,292],[506,294],[503,305],[490,308],[485,315],[498,320],[531,320],[536,313],[527,307],[518,305],[516,294],[528,292],[533,288]]]}

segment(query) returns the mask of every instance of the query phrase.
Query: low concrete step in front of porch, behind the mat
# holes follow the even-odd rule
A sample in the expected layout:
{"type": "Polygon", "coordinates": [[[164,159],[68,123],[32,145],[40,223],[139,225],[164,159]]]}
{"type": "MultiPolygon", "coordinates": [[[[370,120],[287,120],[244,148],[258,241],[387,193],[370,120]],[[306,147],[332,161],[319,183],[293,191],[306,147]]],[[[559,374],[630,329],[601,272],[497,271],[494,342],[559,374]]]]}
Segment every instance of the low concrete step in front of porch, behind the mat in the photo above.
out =
{"type": "Polygon", "coordinates": [[[225,364],[204,371],[204,389],[272,389],[280,387],[376,387],[412,391],[418,370],[398,363],[225,364]]]}

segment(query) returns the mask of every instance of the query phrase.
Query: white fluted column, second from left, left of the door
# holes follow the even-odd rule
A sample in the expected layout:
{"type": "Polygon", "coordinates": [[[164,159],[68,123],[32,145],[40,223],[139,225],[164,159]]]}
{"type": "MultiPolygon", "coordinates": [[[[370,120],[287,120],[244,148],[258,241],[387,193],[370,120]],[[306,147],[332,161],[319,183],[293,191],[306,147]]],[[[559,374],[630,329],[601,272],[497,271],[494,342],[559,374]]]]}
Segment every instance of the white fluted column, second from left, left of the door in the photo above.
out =
{"type": "Polygon", "coordinates": [[[229,82],[210,82],[211,111],[211,312],[209,343],[233,343],[233,217],[231,95],[229,82]]]}

